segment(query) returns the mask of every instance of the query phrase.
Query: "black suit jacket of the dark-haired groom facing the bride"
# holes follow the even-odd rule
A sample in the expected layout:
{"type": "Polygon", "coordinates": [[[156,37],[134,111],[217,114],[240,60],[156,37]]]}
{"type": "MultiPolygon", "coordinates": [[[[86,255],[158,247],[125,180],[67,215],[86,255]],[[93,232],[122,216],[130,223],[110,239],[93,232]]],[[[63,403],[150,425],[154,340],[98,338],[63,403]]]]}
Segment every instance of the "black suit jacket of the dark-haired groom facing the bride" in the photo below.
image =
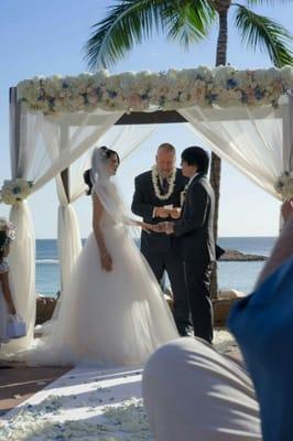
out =
{"type": "Polygon", "coordinates": [[[214,191],[206,175],[198,174],[187,190],[182,217],[174,224],[183,260],[202,263],[215,260],[214,209],[214,191]]]}

